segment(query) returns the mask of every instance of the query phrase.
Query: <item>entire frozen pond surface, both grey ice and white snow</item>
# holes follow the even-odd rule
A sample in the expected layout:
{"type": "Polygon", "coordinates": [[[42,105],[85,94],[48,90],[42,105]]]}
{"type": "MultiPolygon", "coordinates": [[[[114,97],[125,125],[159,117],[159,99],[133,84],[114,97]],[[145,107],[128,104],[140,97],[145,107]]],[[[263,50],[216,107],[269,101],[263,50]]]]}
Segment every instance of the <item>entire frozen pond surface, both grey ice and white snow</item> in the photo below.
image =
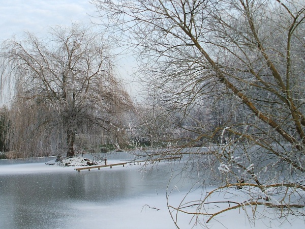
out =
{"type": "MultiPolygon", "coordinates": [[[[134,159],[128,153],[108,156],[108,164],[134,159]]],[[[176,228],[173,222],[176,218],[179,228],[202,226],[196,224],[197,218],[192,218],[191,214],[173,212],[172,219],[167,208],[167,201],[174,207],[179,206],[182,200],[194,203],[192,201],[202,197],[202,191],[209,192],[213,188],[203,185],[204,190],[201,190],[195,186],[186,196],[194,181],[189,179],[190,176],[202,177],[209,183],[199,170],[197,173],[192,169],[196,164],[186,163],[189,161],[187,155],[181,161],[155,163],[155,169],[146,172],[139,170],[142,165],[128,163],[125,167],[105,167],[78,173],[74,167],[46,165],[50,159],[0,160],[0,229],[171,229],[176,228]],[[184,172],[178,173],[182,167],[184,172]],[[168,199],[167,187],[172,190],[168,199]]],[[[225,192],[224,196],[227,198],[231,192],[225,192]]],[[[217,202],[220,198],[215,195],[210,202],[217,202]]],[[[217,205],[210,207],[219,208],[217,205]]],[[[194,206],[190,211],[196,209],[194,206]]],[[[259,208],[260,217],[255,224],[247,218],[249,211],[246,214],[242,209],[235,209],[215,217],[206,227],[304,228],[302,217],[289,217],[283,222],[278,218],[278,212],[269,210],[259,208]]]]}

